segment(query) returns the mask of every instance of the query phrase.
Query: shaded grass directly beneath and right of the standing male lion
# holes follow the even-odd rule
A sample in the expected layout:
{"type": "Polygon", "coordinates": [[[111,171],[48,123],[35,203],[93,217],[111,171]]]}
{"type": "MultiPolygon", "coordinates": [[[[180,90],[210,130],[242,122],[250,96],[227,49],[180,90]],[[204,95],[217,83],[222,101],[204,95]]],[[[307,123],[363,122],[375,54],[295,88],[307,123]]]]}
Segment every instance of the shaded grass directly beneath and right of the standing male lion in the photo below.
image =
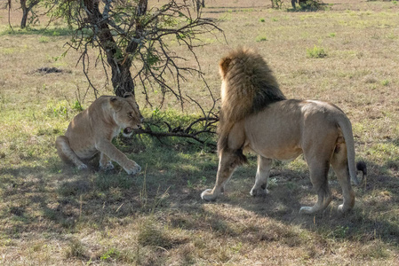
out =
{"type": "MultiPolygon", "coordinates": [[[[230,187],[227,184],[226,195],[221,196],[214,204],[242,207],[255,216],[272,219],[278,224],[299,226],[307,231],[323,234],[326,239],[354,242],[380,239],[384,243],[398,245],[399,226],[397,223],[392,223],[395,220],[395,210],[399,207],[398,176],[387,174],[385,165],[379,166],[371,162],[366,162],[366,164],[369,168],[369,176],[363,184],[354,188],[355,208],[347,214],[341,214],[338,211],[337,207],[343,200],[341,188],[336,178],[331,176],[330,187],[333,199],[330,206],[315,215],[299,215],[301,206],[312,206],[315,203],[316,194],[311,188],[307,173],[291,170],[275,173],[275,178],[279,176],[284,176],[284,178],[270,189],[265,197],[240,198],[237,196],[240,192],[235,192],[236,187],[230,187]],[[377,197],[370,200],[368,197],[370,194],[377,197]]],[[[397,173],[397,169],[395,171],[397,173]]],[[[234,177],[239,178],[239,176],[234,177]]],[[[251,182],[248,183],[245,180],[245,183],[246,192],[249,194],[251,182]]],[[[223,218],[216,216],[214,219],[223,218]]],[[[302,243],[299,235],[290,237],[296,238],[293,242],[302,243]]]]}

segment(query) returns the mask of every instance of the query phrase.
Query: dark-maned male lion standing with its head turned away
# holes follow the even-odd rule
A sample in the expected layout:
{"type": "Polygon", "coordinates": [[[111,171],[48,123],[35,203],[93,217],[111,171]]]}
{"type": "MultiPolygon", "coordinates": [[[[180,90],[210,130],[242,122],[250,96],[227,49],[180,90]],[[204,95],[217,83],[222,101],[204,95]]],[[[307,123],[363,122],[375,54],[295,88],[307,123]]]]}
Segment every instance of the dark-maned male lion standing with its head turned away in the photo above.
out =
{"type": "MultiPolygon", "coordinates": [[[[230,52],[220,60],[221,108],[219,121],[219,169],[214,188],[203,200],[215,200],[234,169],[246,162],[243,150],[258,154],[258,171],[251,195],[267,193],[272,160],[293,160],[303,153],[318,200],[299,213],[323,210],[331,201],[328,185],[330,164],[338,176],[345,212],[355,205],[350,180],[358,184],[352,126],[345,113],[330,103],[286,99],[274,75],[260,55],[249,49],[230,52]],[[349,177],[350,176],[350,177],[349,177]]],[[[366,174],[364,163],[357,166],[366,174]]]]}

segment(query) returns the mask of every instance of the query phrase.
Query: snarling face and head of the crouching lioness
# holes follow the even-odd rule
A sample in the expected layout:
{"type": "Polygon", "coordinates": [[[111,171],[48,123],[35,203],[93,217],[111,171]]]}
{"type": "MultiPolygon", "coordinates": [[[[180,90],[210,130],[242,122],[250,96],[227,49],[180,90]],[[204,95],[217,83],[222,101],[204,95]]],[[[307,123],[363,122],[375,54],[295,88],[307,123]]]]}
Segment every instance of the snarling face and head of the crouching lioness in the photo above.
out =
{"type": "Polygon", "coordinates": [[[143,121],[136,99],[133,95],[129,95],[126,98],[111,98],[110,101],[115,110],[114,120],[116,124],[123,129],[125,137],[130,137],[133,129],[139,129],[143,121]]]}

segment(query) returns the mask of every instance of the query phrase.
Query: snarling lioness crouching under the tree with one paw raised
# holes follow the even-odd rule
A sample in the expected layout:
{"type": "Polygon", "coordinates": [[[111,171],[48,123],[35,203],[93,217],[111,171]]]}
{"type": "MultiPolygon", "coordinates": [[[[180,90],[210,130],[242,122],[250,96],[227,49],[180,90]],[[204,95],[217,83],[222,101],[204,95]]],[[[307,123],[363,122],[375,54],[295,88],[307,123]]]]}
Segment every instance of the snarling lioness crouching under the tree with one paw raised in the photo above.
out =
{"type": "Polygon", "coordinates": [[[79,169],[87,168],[82,160],[91,160],[100,152],[100,168],[114,168],[115,160],[128,174],[140,172],[140,166],[116,149],[111,141],[123,130],[125,137],[138,129],[143,117],[132,94],[124,98],[101,96],[70,122],[65,136],[57,137],[55,146],[60,158],[79,169]]]}

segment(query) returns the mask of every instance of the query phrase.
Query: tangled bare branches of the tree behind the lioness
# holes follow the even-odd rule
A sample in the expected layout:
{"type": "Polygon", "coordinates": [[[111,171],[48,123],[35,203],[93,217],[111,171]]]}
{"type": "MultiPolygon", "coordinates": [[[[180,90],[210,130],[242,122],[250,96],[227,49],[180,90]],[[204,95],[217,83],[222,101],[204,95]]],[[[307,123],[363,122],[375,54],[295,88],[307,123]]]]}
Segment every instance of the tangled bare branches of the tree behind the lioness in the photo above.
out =
{"type": "Polygon", "coordinates": [[[164,105],[166,97],[172,96],[180,102],[182,110],[185,103],[191,103],[202,113],[187,126],[173,128],[171,124],[159,121],[161,125],[156,127],[162,132],[151,130],[151,126],[155,126],[152,124],[138,130],[139,134],[188,137],[204,143],[203,139],[215,132],[219,121],[215,110],[218,99],[213,97],[204,79],[196,48],[204,45],[202,35],[222,33],[216,20],[201,18],[201,10],[192,12],[188,1],[170,0],[151,9],[148,9],[148,0],[68,0],[62,4],[61,9],[67,12],[65,16],[69,23],[77,26],[68,45],[81,52],[78,62],[82,63],[89,86],[96,96],[99,90],[95,89],[89,74],[91,49],[99,51],[95,66],[102,66],[107,82],[110,66],[116,95],[129,90],[134,92],[135,82],[138,82],[149,106],[153,101],[151,93],[161,90],[160,106],[164,105]],[[172,51],[168,45],[171,37],[189,51],[189,58],[172,51]],[[195,74],[210,95],[211,110],[205,110],[198,100],[184,91],[183,82],[188,81],[188,75],[195,74]]]}

